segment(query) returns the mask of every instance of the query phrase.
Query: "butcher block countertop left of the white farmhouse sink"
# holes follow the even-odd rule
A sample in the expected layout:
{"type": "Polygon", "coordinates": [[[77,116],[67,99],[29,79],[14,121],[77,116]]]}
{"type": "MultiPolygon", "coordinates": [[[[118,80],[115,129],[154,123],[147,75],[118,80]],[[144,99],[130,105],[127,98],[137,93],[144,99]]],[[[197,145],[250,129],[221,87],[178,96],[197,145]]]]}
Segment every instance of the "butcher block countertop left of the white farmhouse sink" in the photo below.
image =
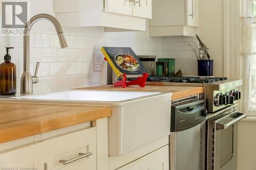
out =
{"type": "Polygon", "coordinates": [[[0,102],[0,143],[108,116],[108,106],[0,102]]]}

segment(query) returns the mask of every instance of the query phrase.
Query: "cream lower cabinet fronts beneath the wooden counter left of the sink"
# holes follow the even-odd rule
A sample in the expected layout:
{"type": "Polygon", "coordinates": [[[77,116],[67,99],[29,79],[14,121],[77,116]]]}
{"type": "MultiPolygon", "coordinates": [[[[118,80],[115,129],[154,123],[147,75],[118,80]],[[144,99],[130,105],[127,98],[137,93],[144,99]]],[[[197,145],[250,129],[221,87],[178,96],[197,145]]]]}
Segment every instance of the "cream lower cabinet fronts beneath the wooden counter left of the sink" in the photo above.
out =
{"type": "Polygon", "coordinates": [[[96,127],[0,153],[0,169],[96,170],[96,166],[96,127]]]}

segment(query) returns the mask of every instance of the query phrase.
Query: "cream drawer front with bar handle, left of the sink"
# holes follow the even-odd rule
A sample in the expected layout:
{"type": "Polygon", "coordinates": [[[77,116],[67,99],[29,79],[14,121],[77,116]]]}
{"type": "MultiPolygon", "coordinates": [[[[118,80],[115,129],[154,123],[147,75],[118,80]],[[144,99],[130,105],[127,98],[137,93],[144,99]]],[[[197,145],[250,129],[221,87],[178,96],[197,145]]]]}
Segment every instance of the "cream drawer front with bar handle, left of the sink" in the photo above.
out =
{"type": "Polygon", "coordinates": [[[48,169],[96,169],[96,128],[46,140],[44,148],[48,169]]]}

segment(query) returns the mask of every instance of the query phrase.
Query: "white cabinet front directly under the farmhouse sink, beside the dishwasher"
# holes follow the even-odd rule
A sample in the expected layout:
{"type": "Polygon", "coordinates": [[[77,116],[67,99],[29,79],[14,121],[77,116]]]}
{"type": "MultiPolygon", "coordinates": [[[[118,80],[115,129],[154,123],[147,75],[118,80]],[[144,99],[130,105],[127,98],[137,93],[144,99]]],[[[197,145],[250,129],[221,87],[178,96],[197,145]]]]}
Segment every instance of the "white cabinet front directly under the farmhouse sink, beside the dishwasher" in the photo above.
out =
{"type": "Polygon", "coordinates": [[[165,145],[148,155],[145,155],[118,170],[168,170],[169,169],[169,147],[165,145]]]}

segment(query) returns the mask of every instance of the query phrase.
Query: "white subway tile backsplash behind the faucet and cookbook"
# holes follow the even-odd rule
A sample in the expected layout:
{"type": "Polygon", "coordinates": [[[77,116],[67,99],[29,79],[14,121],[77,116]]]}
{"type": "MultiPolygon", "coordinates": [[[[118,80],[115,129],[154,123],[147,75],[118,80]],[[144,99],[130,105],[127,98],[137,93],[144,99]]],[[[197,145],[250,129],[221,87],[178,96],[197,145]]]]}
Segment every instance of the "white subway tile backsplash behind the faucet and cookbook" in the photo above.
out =
{"type": "MultiPolygon", "coordinates": [[[[55,16],[53,0],[31,0],[30,17],[38,13],[55,16]]],[[[189,37],[148,37],[148,32],[104,33],[103,28],[63,28],[69,48],[61,50],[54,27],[40,20],[32,28],[30,44],[30,68],[40,61],[39,83],[35,92],[50,92],[76,87],[106,84],[106,63],[102,72],[93,71],[93,53],[101,46],[132,47],[137,55],[156,55],[158,58],[175,58],[176,70],[184,74],[197,74],[196,57],[187,42],[196,41],[189,37]],[[164,55],[162,56],[162,51],[164,55]],[[192,61],[192,62],[191,62],[192,61]],[[191,65],[191,63],[193,63],[191,65]]],[[[23,73],[23,37],[0,36],[0,57],[3,61],[5,46],[13,46],[12,62],[17,66],[17,90],[23,73]]]]}

